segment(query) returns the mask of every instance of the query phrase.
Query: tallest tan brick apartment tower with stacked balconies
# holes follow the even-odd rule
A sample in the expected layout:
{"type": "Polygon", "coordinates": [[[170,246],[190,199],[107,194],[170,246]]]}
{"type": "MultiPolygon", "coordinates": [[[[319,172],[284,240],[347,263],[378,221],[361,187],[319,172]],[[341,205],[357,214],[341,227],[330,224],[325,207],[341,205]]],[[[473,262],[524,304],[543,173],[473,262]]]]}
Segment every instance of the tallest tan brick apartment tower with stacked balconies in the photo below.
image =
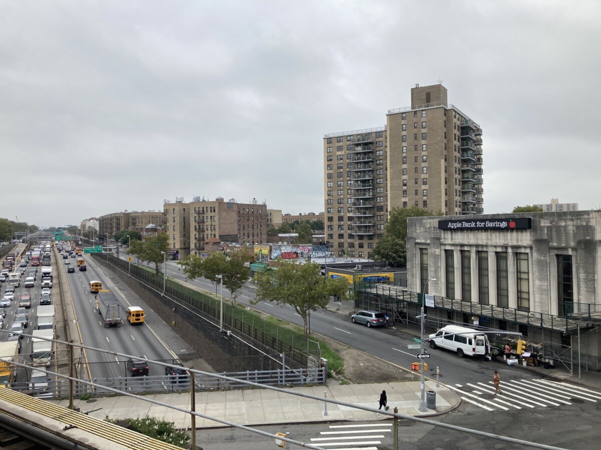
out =
{"type": "Polygon", "coordinates": [[[390,208],[483,212],[482,131],[444,86],[411,89],[379,128],[323,138],[325,234],[337,256],[370,257],[390,208]]]}

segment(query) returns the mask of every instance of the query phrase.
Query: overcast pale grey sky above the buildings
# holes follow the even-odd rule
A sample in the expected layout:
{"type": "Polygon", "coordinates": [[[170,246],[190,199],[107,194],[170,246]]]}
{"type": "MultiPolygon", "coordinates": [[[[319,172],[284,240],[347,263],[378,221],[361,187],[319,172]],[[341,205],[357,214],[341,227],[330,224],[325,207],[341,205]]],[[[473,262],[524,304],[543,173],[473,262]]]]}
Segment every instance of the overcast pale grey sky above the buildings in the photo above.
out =
{"type": "Polygon", "coordinates": [[[323,211],[323,135],[439,78],[483,128],[484,212],[601,206],[601,2],[0,1],[0,217],[163,199],[323,211]]]}

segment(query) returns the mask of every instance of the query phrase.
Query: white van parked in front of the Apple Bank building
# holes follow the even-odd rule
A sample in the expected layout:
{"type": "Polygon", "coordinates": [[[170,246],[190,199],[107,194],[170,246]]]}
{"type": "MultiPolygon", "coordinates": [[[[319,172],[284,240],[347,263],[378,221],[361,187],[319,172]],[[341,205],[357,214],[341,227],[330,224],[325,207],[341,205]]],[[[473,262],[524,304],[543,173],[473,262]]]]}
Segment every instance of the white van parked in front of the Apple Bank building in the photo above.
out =
{"type": "Polygon", "coordinates": [[[431,349],[441,347],[451,350],[457,352],[459,358],[464,355],[487,356],[490,351],[487,335],[465,326],[447,325],[435,334],[430,334],[429,338],[431,349]]]}

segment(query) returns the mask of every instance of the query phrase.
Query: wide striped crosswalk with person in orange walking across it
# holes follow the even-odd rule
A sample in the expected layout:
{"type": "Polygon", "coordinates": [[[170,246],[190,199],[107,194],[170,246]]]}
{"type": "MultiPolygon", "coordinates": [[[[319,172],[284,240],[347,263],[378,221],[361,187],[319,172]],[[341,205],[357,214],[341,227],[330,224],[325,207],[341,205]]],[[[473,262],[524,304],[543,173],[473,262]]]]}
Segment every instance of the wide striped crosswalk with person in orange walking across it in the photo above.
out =
{"type": "Polygon", "coordinates": [[[448,385],[467,403],[487,411],[508,411],[537,407],[558,407],[573,403],[601,400],[601,392],[566,382],[546,379],[520,379],[502,381],[502,393],[495,394],[492,382],[448,385]]]}

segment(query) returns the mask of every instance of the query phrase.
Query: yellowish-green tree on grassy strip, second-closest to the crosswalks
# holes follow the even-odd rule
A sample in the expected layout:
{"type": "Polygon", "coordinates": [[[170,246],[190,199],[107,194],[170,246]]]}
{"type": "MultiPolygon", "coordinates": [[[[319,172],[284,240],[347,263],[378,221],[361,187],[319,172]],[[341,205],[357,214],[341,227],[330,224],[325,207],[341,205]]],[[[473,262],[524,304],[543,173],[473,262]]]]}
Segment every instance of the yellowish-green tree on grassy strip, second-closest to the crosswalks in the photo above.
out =
{"type": "Polygon", "coordinates": [[[236,305],[236,298],[242,293],[242,287],[251,278],[249,266],[253,260],[252,254],[240,250],[229,257],[219,252],[206,258],[191,254],[180,261],[180,265],[184,268],[188,280],[203,277],[212,283],[221,283],[218,276],[223,277],[223,284],[231,294],[231,302],[236,305]]]}

